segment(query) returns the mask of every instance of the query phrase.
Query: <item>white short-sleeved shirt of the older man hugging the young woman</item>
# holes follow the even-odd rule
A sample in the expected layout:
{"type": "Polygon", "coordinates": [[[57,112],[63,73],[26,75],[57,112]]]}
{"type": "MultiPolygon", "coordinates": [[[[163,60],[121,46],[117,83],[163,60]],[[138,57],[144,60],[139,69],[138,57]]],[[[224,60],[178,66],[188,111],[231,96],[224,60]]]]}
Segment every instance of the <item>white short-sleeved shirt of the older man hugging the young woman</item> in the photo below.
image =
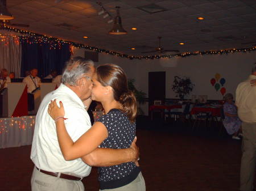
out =
{"type": "Polygon", "coordinates": [[[36,115],[35,131],[31,149],[31,160],[36,167],[50,172],[71,172],[88,176],[91,167],[82,159],[65,160],[57,140],[55,122],[48,114],[48,104],[56,99],[63,102],[65,126],[73,141],[90,129],[90,117],[81,99],[70,88],[61,84],[57,90],[47,94],[40,104],[36,115]]]}

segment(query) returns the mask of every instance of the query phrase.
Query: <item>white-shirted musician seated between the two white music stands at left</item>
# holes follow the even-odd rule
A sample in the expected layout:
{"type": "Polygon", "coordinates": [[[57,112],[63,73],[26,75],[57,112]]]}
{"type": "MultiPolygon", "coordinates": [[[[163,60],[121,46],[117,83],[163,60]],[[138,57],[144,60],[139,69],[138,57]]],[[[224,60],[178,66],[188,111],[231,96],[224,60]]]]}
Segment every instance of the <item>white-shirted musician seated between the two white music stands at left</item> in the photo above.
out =
{"type": "Polygon", "coordinates": [[[30,75],[23,79],[27,84],[27,92],[31,94],[32,91],[40,87],[41,79],[38,77],[38,69],[30,70],[30,75]]]}

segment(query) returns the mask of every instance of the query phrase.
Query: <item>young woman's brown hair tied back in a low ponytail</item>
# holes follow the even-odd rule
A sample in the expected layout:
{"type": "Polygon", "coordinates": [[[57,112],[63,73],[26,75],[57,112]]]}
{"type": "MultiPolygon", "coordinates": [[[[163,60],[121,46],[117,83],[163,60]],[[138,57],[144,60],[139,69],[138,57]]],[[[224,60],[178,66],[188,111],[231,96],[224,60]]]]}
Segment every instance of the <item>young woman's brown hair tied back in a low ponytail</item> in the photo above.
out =
{"type": "Polygon", "coordinates": [[[114,99],[122,104],[122,111],[127,114],[131,122],[134,122],[137,114],[136,98],[128,89],[127,77],[123,69],[114,64],[105,64],[97,67],[96,74],[102,86],[113,88],[114,99]]]}

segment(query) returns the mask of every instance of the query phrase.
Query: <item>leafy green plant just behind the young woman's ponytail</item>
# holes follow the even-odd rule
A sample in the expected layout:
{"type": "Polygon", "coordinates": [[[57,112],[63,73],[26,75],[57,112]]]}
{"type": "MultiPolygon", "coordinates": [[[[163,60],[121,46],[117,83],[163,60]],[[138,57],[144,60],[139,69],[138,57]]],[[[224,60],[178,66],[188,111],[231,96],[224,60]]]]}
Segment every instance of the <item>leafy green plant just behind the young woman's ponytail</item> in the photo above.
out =
{"type": "Polygon", "coordinates": [[[128,79],[128,88],[130,91],[134,92],[134,95],[136,97],[137,102],[139,103],[138,105],[138,114],[144,114],[142,109],[141,109],[141,104],[145,103],[146,99],[146,93],[143,91],[138,91],[137,88],[134,86],[135,79],[128,79]]]}

